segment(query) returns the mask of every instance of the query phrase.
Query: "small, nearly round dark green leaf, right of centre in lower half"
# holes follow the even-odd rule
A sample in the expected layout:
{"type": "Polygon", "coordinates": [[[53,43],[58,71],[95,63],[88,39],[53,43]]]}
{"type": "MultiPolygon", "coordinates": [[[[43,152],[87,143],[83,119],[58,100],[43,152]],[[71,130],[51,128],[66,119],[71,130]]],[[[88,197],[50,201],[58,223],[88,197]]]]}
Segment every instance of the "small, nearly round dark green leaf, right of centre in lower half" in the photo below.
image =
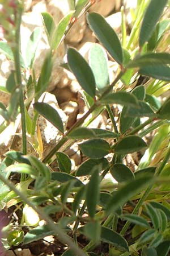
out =
{"type": "Polygon", "coordinates": [[[117,180],[117,182],[124,182],[127,180],[134,179],[133,172],[131,172],[131,170],[127,166],[125,166],[125,164],[121,164],[121,163],[114,164],[111,167],[110,172],[114,177],[114,179],[117,180]]]}

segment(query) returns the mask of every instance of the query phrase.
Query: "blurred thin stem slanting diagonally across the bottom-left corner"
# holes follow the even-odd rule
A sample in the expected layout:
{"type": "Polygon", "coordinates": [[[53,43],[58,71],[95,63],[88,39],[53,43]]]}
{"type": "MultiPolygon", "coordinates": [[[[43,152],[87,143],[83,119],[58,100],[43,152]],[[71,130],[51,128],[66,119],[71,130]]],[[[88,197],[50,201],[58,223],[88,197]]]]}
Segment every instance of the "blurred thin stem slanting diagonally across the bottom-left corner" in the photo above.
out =
{"type": "Polygon", "coordinates": [[[50,226],[50,228],[53,230],[53,232],[58,236],[58,239],[62,241],[63,243],[66,243],[71,250],[75,253],[75,255],[78,256],[87,256],[78,246],[75,245],[75,243],[71,240],[69,236],[59,226],[54,224],[53,220],[42,210],[40,207],[36,207],[31,201],[28,200],[28,198],[23,195],[22,192],[20,192],[16,187],[8,180],[5,179],[0,174],[0,179],[5,183],[12,191],[16,193],[26,204],[29,205],[33,210],[35,210],[39,216],[42,218],[42,220],[45,220],[46,223],[50,226]]]}

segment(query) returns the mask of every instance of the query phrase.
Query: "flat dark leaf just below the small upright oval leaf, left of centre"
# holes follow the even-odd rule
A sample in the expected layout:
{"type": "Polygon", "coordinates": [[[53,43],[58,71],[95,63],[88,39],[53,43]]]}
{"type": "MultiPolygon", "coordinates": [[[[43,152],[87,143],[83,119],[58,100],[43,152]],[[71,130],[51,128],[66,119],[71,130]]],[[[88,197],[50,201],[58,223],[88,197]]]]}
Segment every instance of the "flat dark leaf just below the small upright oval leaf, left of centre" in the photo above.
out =
{"type": "Polygon", "coordinates": [[[66,172],[52,172],[52,180],[57,180],[60,183],[67,182],[69,180],[75,180],[75,187],[80,187],[83,185],[83,183],[80,180],[76,179],[76,177],[70,174],[66,174],[66,172]]]}

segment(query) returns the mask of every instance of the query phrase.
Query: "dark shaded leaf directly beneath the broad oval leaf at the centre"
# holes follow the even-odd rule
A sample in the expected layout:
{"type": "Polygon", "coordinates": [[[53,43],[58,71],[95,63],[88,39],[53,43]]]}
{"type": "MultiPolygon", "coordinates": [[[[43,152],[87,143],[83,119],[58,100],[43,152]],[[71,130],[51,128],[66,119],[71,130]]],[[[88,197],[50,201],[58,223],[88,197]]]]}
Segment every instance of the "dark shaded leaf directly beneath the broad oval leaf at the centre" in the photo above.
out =
{"type": "Polygon", "coordinates": [[[108,160],[105,158],[101,159],[88,159],[85,162],[83,162],[78,170],[76,171],[76,176],[87,176],[91,175],[92,170],[95,166],[101,165],[101,170],[105,170],[108,167],[108,160]]]}

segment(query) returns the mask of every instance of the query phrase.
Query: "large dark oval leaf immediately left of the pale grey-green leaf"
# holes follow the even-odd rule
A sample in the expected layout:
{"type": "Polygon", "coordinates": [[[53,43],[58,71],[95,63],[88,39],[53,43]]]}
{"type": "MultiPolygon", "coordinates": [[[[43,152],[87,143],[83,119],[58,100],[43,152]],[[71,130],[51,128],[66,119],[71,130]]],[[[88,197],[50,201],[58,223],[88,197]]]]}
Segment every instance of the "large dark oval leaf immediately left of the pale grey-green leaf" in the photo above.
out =
{"type": "Polygon", "coordinates": [[[95,97],[96,94],[96,82],[94,74],[87,61],[80,55],[74,48],[69,48],[67,51],[67,60],[71,71],[73,71],[76,79],[82,88],[91,97],[95,97]]]}

